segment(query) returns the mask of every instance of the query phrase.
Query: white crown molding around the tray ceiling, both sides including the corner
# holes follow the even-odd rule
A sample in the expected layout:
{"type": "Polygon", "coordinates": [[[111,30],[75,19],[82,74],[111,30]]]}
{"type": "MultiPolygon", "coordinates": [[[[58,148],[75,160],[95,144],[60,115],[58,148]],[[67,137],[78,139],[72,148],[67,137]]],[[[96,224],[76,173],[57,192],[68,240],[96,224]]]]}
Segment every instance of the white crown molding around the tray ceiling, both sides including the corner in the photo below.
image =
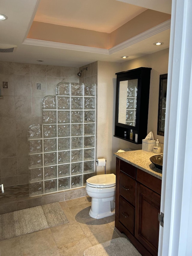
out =
{"type": "Polygon", "coordinates": [[[167,21],[153,27],[152,29],[149,29],[131,39],[126,40],[125,42],[123,42],[121,44],[118,44],[118,45],[112,47],[109,50],[102,49],[102,48],[96,48],[96,47],[76,45],[76,44],[65,44],[65,43],[58,43],[58,42],[52,42],[52,41],[45,41],[45,40],[39,40],[39,39],[33,39],[33,38],[26,38],[22,44],[110,55],[112,53],[118,52],[119,50],[123,50],[128,46],[136,44],[144,39],[147,39],[153,35],[156,35],[160,32],[170,29],[170,26],[171,26],[171,20],[167,20],[167,21]]]}

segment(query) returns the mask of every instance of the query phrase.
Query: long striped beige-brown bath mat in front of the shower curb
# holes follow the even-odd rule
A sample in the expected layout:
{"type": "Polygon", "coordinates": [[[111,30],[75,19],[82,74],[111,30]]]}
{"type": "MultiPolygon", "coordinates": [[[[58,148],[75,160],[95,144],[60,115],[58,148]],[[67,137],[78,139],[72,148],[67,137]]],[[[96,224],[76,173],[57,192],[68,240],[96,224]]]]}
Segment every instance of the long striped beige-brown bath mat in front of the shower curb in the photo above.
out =
{"type": "Polygon", "coordinates": [[[0,215],[0,241],[67,222],[58,202],[4,213],[0,215]]]}

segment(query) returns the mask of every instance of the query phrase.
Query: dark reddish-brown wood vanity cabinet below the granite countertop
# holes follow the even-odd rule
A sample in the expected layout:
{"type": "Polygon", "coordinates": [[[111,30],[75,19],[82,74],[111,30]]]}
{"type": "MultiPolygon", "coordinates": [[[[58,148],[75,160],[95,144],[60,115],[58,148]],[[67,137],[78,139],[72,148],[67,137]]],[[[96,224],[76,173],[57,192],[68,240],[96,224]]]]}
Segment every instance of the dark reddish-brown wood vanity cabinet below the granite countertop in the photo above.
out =
{"type": "Polygon", "coordinates": [[[115,226],[143,256],[158,255],[161,179],[116,158],[115,226]]]}

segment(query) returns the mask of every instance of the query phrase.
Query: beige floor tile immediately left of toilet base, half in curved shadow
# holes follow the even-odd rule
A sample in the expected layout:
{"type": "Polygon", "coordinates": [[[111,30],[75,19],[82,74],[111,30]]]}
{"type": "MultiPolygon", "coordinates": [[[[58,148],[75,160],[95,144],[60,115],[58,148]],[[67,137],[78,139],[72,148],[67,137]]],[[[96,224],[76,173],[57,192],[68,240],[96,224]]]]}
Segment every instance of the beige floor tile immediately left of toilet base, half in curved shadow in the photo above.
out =
{"type": "Polygon", "coordinates": [[[89,217],[89,210],[91,208],[91,203],[84,203],[77,206],[70,207],[70,211],[75,216],[76,221],[79,219],[89,217]]]}

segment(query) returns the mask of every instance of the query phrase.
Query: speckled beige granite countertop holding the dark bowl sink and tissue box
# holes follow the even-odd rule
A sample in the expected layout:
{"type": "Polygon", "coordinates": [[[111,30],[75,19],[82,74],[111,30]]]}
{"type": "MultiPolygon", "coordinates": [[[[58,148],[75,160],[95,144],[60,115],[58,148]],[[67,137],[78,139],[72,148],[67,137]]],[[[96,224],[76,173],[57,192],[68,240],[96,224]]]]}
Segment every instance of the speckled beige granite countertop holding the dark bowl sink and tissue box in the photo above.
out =
{"type": "Polygon", "coordinates": [[[147,152],[145,150],[140,149],[140,150],[133,150],[133,151],[116,152],[113,155],[143,170],[144,172],[147,172],[157,177],[158,179],[162,179],[162,171],[158,170],[149,159],[153,155],[159,155],[159,154],[153,153],[153,151],[147,152]]]}

